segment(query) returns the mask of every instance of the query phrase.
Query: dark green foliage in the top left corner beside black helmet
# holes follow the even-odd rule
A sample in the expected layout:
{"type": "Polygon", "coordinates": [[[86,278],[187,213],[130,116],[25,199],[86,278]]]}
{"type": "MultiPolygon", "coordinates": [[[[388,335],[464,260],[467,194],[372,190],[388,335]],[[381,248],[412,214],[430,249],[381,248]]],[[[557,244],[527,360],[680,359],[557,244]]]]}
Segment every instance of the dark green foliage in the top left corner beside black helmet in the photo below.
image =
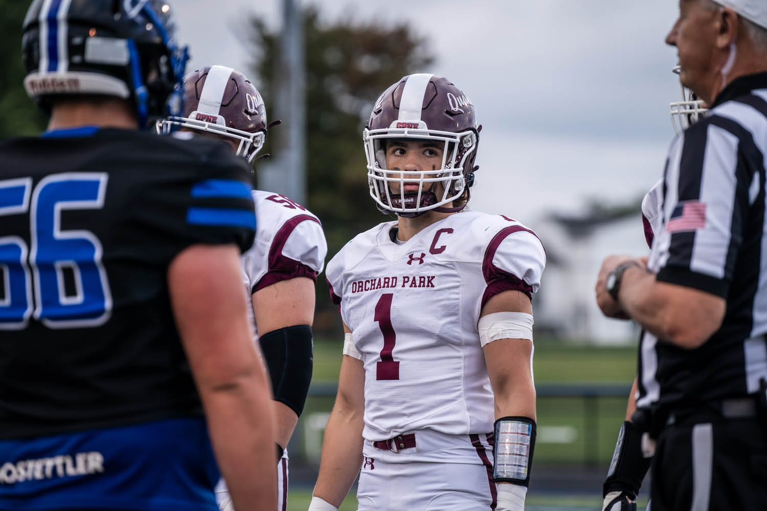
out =
{"type": "Polygon", "coordinates": [[[0,0],[0,139],[37,135],[45,129],[45,119],[24,90],[27,72],[21,61],[21,24],[29,2],[0,0]]]}

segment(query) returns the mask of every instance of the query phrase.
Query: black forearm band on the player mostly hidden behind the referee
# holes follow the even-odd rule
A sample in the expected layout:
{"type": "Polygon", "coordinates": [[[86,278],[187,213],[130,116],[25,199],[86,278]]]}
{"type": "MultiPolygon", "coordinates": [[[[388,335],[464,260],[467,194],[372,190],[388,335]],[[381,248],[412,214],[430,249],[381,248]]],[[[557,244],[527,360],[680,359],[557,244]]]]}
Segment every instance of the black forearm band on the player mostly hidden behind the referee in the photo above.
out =
{"type": "Polygon", "coordinates": [[[618,433],[613,460],[602,486],[602,496],[621,491],[635,500],[651,461],[651,458],[642,456],[642,431],[635,424],[625,421],[618,433]]]}

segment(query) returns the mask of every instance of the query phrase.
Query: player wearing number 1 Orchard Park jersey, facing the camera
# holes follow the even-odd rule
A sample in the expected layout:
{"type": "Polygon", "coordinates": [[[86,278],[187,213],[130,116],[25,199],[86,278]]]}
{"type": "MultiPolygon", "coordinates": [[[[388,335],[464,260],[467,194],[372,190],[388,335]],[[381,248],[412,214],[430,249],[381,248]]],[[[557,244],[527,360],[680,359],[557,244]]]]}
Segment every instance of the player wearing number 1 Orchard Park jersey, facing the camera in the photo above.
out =
{"type": "Polygon", "coordinates": [[[360,467],[360,510],[524,508],[545,251],[518,221],[466,208],[479,129],[466,94],[434,74],[375,103],[370,196],[397,220],[328,264],[346,333],[311,511],[337,509],[360,467]]]}

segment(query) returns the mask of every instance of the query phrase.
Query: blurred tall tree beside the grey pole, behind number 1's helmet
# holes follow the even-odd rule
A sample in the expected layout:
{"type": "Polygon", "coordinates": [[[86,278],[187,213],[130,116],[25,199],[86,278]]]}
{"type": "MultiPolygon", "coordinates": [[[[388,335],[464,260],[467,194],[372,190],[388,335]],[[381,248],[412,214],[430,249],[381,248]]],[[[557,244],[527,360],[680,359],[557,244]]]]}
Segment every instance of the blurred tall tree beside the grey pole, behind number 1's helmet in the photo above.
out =
{"type": "MultiPolygon", "coordinates": [[[[252,20],[259,49],[253,68],[267,107],[275,100],[279,34],[261,18],[252,20]]],[[[373,103],[401,77],[429,70],[434,58],[425,39],[404,23],[355,23],[319,19],[304,10],[306,62],[308,208],[322,221],[332,257],[355,234],[384,221],[368,197],[362,128],[373,103]]],[[[270,118],[280,113],[270,109],[270,118]]],[[[276,129],[279,129],[276,128],[276,129]]],[[[268,142],[267,142],[268,143],[268,142]]],[[[269,148],[265,148],[269,152],[269,148]]],[[[324,281],[318,283],[318,329],[337,327],[324,281]]]]}

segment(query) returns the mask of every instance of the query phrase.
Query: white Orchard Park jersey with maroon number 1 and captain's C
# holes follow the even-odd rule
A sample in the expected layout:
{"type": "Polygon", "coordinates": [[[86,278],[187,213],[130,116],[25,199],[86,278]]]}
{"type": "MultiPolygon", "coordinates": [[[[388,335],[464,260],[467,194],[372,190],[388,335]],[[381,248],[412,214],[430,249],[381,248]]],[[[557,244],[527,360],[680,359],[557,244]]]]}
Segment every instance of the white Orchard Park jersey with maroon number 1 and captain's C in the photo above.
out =
{"type": "Polygon", "coordinates": [[[538,290],[541,241],[517,221],[478,211],[436,221],[403,244],[390,237],[396,225],[357,235],[326,270],[351,354],[364,363],[363,436],[492,431],[479,312],[504,290],[538,290]]]}

